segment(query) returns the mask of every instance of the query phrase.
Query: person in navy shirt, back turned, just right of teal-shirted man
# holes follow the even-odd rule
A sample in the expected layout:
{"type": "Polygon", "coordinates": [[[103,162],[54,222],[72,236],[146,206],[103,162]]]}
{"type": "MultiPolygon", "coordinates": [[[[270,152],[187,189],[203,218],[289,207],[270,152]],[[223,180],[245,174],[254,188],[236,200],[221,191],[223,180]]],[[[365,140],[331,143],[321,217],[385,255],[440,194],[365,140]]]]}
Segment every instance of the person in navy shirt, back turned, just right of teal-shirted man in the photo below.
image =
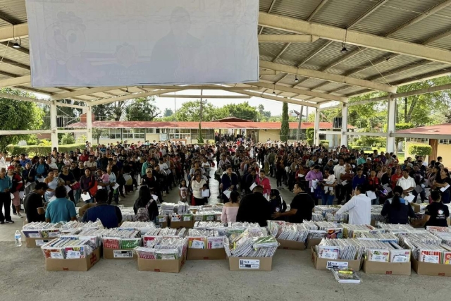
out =
{"type": "Polygon", "coordinates": [[[82,217],[83,223],[99,219],[105,228],[117,228],[122,222],[122,213],[119,207],[106,204],[108,192],[104,189],[97,190],[94,199],[96,204],[85,211],[82,217]]]}

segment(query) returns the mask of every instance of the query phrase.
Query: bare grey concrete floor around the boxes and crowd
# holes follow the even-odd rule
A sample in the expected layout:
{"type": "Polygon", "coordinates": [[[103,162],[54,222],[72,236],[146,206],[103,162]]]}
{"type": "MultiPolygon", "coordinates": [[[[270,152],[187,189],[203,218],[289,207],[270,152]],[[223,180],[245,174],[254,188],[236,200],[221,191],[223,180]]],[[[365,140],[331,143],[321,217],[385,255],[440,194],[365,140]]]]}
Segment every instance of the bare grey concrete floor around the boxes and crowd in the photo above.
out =
{"type": "MultiPolygon", "coordinates": [[[[271,178],[271,185],[276,185],[271,178]]],[[[211,181],[210,202],[217,182],[211,181]]],[[[178,200],[173,190],[168,202],[178,200]]],[[[282,190],[291,202],[292,192],[282,190]]],[[[137,192],[122,204],[131,206],[137,192]]],[[[23,219],[0,227],[0,300],[449,300],[450,278],[367,275],[361,284],[339,284],[329,271],[316,271],[311,253],[278,250],[271,272],[233,272],[228,262],[189,261],[180,274],[137,271],[132,260],[101,259],[87,272],[45,271],[39,248],[16,247],[13,233],[23,219]]]]}

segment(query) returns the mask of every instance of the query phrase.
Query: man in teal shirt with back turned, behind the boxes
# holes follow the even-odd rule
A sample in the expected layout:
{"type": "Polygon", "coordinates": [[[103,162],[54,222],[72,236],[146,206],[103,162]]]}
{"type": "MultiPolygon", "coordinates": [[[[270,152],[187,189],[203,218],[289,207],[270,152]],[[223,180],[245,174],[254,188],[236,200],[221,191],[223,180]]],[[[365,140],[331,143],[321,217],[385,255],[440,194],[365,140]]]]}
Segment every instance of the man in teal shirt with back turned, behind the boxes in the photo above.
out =
{"type": "Polygon", "coordinates": [[[47,223],[59,223],[60,221],[75,221],[77,212],[73,202],[66,198],[67,192],[64,186],[55,189],[53,202],[49,202],[45,211],[45,221],[47,223]]]}

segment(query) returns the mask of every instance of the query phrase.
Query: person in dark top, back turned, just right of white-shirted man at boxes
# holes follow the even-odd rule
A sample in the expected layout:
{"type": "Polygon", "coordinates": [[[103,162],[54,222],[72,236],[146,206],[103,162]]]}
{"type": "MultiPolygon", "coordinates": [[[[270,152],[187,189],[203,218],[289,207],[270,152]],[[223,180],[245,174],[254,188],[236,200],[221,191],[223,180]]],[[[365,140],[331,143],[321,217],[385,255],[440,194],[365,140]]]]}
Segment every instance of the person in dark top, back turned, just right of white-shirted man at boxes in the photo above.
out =
{"type": "Polygon", "coordinates": [[[409,217],[416,218],[414,209],[401,196],[404,190],[400,186],[396,186],[393,190],[393,199],[387,199],[383,204],[381,216],[385,216],[387,223],[408,224],[409,217]]]}

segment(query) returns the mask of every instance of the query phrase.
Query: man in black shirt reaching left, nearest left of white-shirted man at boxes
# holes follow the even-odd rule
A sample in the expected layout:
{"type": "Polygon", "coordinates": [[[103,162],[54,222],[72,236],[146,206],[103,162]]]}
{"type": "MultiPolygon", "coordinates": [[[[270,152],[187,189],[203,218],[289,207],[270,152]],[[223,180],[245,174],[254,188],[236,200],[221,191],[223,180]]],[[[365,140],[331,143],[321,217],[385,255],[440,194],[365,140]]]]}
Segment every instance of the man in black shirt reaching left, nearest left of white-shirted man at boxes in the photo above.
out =
{"type": "Polygon", "coordinates": [[[276,212],[272,215],[274,219],[279,216],[289,216],[288,221],[290,223],[302,223],[302,221],[311,221],[311,212],[315,207],[315,202],[309,194],[304,192],[299,184],[295,184],[293,188],[295,197],[290,204],[290,211],[280,213],[276,212]]]}

